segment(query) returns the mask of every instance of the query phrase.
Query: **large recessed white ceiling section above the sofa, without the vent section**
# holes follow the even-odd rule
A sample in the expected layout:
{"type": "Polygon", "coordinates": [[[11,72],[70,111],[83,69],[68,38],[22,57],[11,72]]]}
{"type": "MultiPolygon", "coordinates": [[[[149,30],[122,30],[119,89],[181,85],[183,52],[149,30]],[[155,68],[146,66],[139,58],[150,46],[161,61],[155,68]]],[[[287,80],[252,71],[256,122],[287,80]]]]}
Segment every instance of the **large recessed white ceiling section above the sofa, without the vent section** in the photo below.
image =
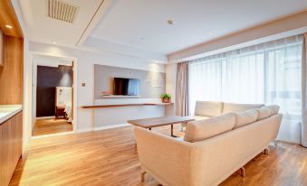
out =
{"type": "Polygon", "coordinates": [[[91,37],[169,54],[306,8],[306,0],[118,0],[91,37]]]}

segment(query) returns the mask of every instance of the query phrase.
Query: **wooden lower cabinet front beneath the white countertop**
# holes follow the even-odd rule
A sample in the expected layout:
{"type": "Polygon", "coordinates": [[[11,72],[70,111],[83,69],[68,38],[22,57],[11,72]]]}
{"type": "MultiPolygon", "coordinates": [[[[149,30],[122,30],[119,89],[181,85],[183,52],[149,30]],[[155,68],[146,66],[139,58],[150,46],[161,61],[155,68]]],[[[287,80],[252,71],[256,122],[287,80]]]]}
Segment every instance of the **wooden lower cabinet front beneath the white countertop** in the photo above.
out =
{"type": "Polygon", "coordinates": [[[19,112],[0,126],[0,185],[8,185],[23,149],[23,114],[19,112]]]}

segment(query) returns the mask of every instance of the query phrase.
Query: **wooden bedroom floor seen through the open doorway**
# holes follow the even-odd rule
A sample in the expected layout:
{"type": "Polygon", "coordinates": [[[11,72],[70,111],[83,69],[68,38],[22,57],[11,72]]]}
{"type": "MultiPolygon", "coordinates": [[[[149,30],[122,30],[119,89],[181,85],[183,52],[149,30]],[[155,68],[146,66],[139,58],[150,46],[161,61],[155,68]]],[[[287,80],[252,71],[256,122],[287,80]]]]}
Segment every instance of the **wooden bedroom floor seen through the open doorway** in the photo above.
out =
{"type": "Polygon", "coordinates": [[[36,120],[32,135],[51,135],[72,131],[72,124],[65,119],[39,119],[36,120]]]}

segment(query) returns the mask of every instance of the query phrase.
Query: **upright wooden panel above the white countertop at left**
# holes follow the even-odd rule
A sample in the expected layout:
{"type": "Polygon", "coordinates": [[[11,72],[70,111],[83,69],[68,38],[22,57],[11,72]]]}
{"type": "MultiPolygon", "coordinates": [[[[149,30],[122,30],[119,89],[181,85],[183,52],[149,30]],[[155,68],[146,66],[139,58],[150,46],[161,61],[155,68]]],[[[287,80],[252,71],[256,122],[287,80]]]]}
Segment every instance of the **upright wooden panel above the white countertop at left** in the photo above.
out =
{"type": "Polygon", "coordinates": [[[5,66],[0,67],[0,89],[0,104],[23,104],[23,38],[5,36],[5,66]]]}

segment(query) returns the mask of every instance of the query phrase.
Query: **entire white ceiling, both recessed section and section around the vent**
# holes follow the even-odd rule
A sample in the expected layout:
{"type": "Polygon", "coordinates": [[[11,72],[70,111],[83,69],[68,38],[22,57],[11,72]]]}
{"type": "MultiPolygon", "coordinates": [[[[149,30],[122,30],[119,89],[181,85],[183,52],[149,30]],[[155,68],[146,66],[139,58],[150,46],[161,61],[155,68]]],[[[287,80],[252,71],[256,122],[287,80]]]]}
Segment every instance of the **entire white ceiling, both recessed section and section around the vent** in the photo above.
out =
{"type": "Polygon", "coordinates": [[[63,1],[79,6],[74,23],[49,18],[47,0],[19,0],[30,41],[159,61],[172,52],[307,10],[307,0],[63,1]]]}

